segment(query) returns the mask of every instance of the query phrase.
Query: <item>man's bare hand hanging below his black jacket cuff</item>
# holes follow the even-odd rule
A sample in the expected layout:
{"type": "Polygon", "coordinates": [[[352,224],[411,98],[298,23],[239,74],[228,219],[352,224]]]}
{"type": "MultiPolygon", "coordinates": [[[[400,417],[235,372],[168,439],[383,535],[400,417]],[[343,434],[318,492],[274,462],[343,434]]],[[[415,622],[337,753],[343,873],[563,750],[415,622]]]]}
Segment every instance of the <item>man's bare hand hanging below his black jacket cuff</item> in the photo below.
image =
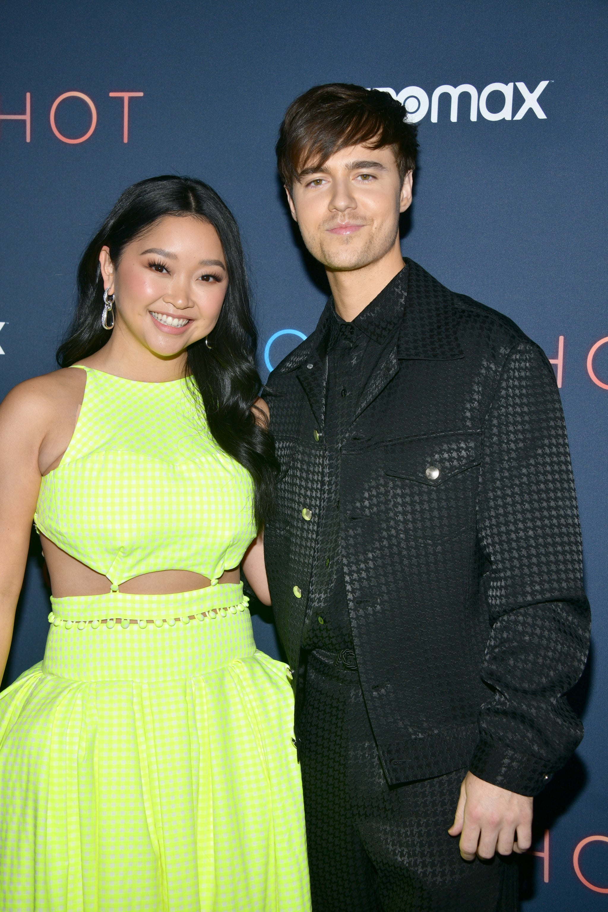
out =
{"type": "Polygon", "coordinates": [[[448,834],[460,834],[460,855],[465,861],[472,861],[475,855],[492,858],[495,852],[525,852],[532,841],[532,799],[468,772],[448,834]]]}

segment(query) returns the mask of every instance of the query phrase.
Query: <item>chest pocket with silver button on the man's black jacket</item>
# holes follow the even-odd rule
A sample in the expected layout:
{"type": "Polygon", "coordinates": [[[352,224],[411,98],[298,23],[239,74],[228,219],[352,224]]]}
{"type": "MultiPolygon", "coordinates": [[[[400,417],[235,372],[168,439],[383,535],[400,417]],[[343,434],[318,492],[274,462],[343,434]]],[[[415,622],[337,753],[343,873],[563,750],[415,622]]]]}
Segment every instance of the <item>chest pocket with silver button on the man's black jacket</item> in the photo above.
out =
{"type": "Polygon", "coordinates": [[[475,527],[479,434],[386,443],[384,461],[390,503],[415,536],[426,542],[469,537],[466,532],[475,527]]]}

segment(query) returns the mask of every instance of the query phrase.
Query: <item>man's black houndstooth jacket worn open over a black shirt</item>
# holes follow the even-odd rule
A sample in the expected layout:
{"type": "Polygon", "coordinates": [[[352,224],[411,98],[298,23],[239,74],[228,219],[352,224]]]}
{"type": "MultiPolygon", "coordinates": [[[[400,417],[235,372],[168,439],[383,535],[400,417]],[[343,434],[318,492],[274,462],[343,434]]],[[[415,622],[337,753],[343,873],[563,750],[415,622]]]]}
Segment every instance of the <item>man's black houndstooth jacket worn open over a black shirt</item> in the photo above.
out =
{"type": "MultiPolygon", "coordinates": [[[[581,741],[564,694],[589,635],[560,396],[541,349],[507,317],[407,266],[397,343],[342,448],[361,686],[388,782],[469,767],[533,795],[581,741]]],[[[317,530],[336,506],[324,496],[329,306],[264,392],[282,467],[264,549],[296,672],[296,732],[317,530]]]]}

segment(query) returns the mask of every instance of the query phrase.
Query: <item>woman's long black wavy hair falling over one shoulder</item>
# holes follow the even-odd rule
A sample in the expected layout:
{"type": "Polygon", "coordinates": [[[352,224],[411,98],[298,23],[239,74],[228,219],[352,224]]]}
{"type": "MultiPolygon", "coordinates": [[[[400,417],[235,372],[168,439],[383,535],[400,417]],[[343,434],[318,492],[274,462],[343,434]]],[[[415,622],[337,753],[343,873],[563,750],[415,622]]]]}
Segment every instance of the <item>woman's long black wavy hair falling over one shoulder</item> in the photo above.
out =
{"type": "Polygon", "coordinates": [[[263,413],[254,409],[262,381],[255,366],[257,332],[239,228],[232,212],[208,184],[188,177],[161,176],[139,181],[121,194],[78,264],[76,313],[57,349],[57,363],[69,368],[108,341],[108,330],[101,326],[101,248],[108,246],[112,263],[118,266],[126,244],[164,215],[199,218],[215,228],[222,243],[228,290],[218,322],[208,336],[211,347],[204,339],[194,342],[188,348],[185,373],[195,381],[191,390],[197,404],[204,407],[211,434],[252,476],[253,510],[260,526],[272,510],[278,462],[263,413]]]}

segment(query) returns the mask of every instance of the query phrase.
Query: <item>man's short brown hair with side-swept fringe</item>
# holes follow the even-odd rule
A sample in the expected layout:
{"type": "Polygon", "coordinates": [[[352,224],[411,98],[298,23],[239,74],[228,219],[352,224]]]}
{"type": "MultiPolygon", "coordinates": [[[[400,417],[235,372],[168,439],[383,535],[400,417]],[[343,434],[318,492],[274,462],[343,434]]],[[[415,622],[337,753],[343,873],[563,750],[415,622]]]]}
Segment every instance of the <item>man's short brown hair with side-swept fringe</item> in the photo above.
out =
{"type": "Polygon", "coordinates": [[[388,92],[345,82],[309,88],[285,112],[276,143],[284,185],[291,190],[305,164],[325,164],[335,152],[365,143],[392,146],[403,181],[416,167],[417,127],[388,92]]]}

